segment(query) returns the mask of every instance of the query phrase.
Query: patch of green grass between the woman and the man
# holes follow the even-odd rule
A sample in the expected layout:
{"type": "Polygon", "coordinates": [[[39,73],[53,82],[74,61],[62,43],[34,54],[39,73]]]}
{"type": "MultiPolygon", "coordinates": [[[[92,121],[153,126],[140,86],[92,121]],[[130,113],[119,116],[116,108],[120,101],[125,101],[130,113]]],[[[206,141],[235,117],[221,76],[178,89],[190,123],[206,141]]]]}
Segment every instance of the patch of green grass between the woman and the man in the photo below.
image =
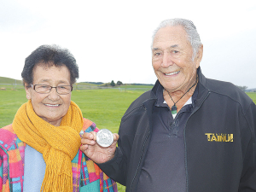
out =
{"type": "Polygon", "coordinates": [[[72,100],[79,105],[85,118],[96,122],[98,128],[118,132],[126,109],[142,91],[76,90],[72,100]]]}

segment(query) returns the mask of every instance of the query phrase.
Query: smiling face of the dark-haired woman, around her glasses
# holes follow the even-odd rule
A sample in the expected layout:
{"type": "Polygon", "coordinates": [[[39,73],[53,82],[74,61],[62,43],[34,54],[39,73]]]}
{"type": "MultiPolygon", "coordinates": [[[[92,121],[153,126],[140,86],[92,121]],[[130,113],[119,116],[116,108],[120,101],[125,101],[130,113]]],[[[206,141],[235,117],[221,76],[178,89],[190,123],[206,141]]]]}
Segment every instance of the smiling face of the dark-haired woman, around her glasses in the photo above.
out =
{"type": "MultiPolygon", "coordinates": [[[[66,66],[44,67],[38,64],[33,68],[33,84],[46,84],[52,87],[70,84],[70,73],[66,66]]],[[[30,84],[25,84],[26,98],[31,99],[35,113],[51,125],[61,125],[62,117],[67,113],[71,102],[71,92],[59,95],[55,88],[49,93],[38,93],[30,84]]]]}

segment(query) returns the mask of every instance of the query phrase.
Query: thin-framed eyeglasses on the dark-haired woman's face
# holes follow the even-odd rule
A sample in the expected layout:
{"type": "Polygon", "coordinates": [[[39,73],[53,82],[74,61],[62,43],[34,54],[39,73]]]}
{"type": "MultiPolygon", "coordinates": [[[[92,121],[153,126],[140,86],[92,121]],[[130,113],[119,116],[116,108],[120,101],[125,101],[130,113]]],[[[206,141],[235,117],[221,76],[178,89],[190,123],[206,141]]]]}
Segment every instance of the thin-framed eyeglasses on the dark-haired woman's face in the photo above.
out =
{"type": "Polygon", "coordinates": [[[72,85],[60,85],[60,86],[52,87],[47,84],[31,84],[31,87],[37,93],[43,93],[43,94],[49,93],[52,88],[55,88],[57,93],[60,95],[66,95],[73,90],[72,85]]]}

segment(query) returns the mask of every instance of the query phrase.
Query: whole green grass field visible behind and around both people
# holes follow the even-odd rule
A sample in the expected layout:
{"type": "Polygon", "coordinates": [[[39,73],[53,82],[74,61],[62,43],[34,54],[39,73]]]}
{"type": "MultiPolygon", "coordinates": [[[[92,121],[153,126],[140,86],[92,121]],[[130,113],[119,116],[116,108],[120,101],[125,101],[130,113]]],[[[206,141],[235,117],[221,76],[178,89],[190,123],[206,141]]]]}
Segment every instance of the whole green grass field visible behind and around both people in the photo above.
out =
{"type": "MultiPolygon", "coordinates": [[[[81,108],[84,118],[94,121],[98,128],[118,132],[120,119],[132,101],[143,94],[139,90],[73,90],[72,100],[81,108]]],[[[247,93],[256,103],[256,93],[247,93]]],[[[0,90],[0,127],[12,123],[15,113],[26,102],[25,90],[0,90]]],[[[119,192],[125,187],[118,184],[119,192]]]]}

